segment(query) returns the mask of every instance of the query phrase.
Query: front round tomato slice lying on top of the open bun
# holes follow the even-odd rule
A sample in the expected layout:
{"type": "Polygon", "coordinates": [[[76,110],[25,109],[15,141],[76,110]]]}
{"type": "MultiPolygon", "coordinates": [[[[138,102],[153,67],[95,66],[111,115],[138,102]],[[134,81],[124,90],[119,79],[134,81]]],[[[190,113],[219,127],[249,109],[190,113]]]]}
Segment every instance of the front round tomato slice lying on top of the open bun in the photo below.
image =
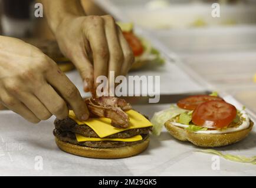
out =
{"type": "Polygon", "coordinates": [[[237,115],[235,106],[225,102],[212,100],[199,105],[192,113],[195,125],[219,129],[226,127],[237,115]]]}

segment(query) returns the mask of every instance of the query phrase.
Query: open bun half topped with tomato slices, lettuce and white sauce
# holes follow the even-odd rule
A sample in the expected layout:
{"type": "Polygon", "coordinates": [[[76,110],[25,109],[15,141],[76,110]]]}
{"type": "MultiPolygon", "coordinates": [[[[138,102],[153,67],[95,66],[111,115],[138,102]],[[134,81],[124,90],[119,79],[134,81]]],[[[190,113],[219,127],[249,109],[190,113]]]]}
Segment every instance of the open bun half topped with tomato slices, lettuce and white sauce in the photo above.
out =
{"type": "MultiPolygon", "coordinates": [[[[170,109],[155,114],[152,123],[157,124],[160,116],[170,135],[201,147],[227,146],[239,142],[251,132],[254,125],[244,109],[238,110],[224,99],[208,95],[179,100],[170,109]]],[[[159,130],[155,131],[159,134],[159,130]]]]}

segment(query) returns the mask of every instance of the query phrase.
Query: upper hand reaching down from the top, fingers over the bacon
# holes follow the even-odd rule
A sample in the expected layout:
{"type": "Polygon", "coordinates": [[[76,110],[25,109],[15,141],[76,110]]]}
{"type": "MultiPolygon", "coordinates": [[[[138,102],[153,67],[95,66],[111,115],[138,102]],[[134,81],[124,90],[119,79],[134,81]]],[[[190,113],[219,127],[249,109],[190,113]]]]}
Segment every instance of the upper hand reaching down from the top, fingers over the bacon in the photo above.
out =
{"type": "MultiPolygon", "coordinates": [[[[61,52],[69,58],[84,81],[84,90],[96,90],[96,78],[126,75],[134,56],[113,17],[67,16],[55,29],[61,52]]],[[[99,83],[98,83],[99,84],[99,83]]]]}

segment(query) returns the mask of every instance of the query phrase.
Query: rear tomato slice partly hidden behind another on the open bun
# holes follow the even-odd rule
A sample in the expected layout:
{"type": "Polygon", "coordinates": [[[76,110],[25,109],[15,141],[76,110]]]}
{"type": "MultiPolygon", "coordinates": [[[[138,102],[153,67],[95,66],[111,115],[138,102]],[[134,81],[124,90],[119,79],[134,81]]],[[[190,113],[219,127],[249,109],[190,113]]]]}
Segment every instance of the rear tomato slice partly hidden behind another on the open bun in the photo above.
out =
{"type": "Polygon", "coordinates": [[[179,100],[177,105],[179,106],[179,108],[183,108],[186,110],[193,110],[201,103],[211,101],[211,100],[223,100],[223,99],[217,96],[194,95],[194,96],[189,96],[188,98],[179,100]]]}

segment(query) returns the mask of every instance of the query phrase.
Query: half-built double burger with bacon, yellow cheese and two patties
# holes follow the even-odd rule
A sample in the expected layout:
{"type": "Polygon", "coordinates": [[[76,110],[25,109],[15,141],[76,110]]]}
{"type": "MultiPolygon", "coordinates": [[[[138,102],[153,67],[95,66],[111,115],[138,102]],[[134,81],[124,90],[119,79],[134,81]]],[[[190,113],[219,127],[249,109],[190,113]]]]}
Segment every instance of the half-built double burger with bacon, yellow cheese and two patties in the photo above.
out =
{"type": "Polygon", "coordinates": [[[80,122],[74,112],[55,119],[57,146],[73,155],[97,159],[119,159],[143,152],[149,145],[152,123],[123,99],[87,99],[90,118],[80,122]]]}

